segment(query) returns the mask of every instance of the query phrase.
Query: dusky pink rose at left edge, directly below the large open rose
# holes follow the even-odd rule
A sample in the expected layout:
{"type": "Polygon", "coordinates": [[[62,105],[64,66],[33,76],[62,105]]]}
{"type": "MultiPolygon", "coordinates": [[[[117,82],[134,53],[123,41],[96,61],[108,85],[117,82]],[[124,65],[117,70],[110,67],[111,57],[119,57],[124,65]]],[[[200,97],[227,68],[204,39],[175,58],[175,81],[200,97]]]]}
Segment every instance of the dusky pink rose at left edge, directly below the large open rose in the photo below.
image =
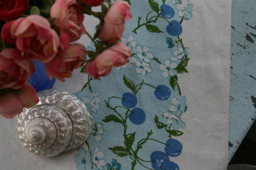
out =
{"type": "Polygon", "coordinates": [[[6,48],[0,52],[0,89],[21,88],[34,71],[32,60],[22,57],[19,50],[6,48]]]}

